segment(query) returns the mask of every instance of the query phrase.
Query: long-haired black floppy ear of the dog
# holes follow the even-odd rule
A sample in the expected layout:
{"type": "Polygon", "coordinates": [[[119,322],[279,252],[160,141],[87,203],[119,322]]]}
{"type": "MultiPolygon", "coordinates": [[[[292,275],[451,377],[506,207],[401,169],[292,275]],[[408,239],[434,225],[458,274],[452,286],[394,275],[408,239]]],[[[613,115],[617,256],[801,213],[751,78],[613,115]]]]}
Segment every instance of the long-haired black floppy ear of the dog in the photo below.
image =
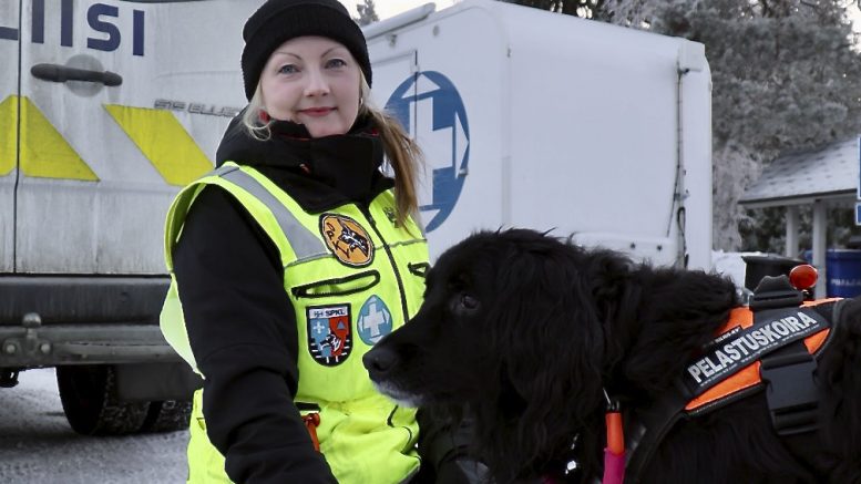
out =
{"type": "Polygon", "coordinates": [[[603,402],[602,328],[581,254],[549,240],[520,245],[500,261],[499,302],[488,308],[488,343],[501,361],[498,405],[516,419],[496,426],[506,429],[496,440],[532,451],[525,460],[570,445],[572,429],[583,429],[603,402]]]}

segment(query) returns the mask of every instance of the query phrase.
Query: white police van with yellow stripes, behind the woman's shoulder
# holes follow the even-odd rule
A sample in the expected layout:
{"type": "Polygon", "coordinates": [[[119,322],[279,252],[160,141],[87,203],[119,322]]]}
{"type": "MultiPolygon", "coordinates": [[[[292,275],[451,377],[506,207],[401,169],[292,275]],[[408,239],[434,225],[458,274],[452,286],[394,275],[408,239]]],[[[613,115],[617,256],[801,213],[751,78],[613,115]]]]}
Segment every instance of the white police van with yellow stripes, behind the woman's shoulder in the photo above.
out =
{"type": "Polygon", "coordinates": [[[0,385],[58,367],[79,432],[187,423],[195,381],[157,326],[164,216],[245,104],[259,3],[0,2],[0,385]]]}

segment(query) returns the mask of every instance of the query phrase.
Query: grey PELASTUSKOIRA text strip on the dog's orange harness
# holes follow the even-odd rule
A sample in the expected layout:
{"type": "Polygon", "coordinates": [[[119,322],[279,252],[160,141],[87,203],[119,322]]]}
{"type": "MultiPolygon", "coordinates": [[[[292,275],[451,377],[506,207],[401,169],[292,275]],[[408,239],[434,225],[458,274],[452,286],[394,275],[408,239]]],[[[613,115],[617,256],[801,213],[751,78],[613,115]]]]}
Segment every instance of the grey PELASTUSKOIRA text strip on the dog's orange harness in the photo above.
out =
{"type": "Polygon", "coordinates": [[[829,327],[824,318],[806,308],[748,328],[730,317],[730,325],[732,329],[717,337],[706,347],[703,357],[688,365],[683,382],[690,394],[699,395],[763,354],[829,327]]]}

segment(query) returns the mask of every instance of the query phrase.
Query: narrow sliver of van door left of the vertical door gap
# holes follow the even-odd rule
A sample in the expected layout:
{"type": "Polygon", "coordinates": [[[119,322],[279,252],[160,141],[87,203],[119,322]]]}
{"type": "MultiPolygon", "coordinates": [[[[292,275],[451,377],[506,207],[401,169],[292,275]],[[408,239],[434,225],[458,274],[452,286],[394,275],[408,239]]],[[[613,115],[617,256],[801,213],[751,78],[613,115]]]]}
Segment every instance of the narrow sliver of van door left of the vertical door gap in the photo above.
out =
{"type": "Polygon", "coordinates": [[[0,272],[14,264],[19,17],[18,2],[0,2],[0,272]]]}

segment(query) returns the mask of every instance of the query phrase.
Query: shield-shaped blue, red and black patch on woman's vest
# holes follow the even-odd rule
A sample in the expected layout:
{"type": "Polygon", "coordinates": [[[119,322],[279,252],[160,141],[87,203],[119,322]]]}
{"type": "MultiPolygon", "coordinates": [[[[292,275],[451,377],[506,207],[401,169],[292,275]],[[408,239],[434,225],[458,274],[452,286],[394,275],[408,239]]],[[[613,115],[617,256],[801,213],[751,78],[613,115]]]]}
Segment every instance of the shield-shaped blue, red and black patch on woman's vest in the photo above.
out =
{"type": "Polygon", "coordinates": [[[344,362],[352,351],[350,305],[314,306],[306,309],[308,350],[327,367],[344,362]]]}

